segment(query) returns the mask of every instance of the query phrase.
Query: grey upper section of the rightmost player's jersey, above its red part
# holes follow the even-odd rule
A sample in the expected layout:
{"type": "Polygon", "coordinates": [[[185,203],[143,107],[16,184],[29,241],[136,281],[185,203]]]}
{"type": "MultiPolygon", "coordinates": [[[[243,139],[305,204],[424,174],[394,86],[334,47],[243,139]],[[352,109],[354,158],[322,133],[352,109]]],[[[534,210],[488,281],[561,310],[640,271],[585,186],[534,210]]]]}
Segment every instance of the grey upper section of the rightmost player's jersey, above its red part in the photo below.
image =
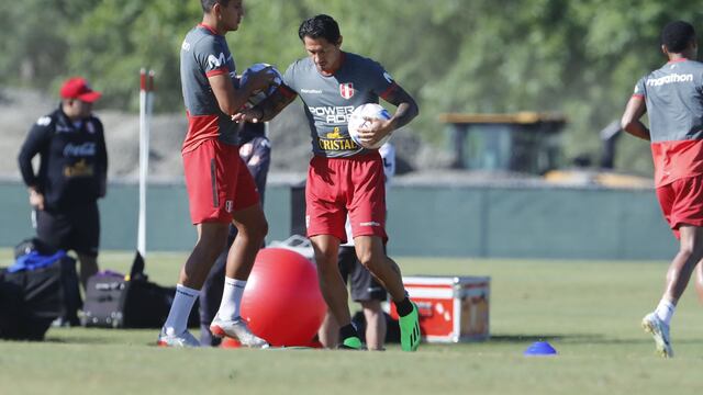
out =
{"type": "Polygon", "coordinates": [[[645,98],[652,143],[703,138],[703,64],[669,61],[643,77],[634,95],[645,98]]]}

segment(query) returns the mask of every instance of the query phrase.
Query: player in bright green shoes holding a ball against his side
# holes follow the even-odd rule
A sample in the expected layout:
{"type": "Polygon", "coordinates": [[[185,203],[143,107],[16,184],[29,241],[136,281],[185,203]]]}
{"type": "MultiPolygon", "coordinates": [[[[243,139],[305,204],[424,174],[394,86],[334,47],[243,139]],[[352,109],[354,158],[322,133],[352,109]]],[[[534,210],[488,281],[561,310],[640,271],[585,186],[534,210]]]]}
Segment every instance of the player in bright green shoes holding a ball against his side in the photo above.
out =
{"type": "Polygon", "coordinates": [[[339,244],[347,239],[348,213],[356,255],[391,294],[401,316],[401,347],[414,351],[421,337],[417,307],[406,296],[398,264],[383,250],[388,240],[383,162],[377,149],[352,139],[347,123],[357,106],[378,103],[379,97],[395,105],[390,120],[369,117],[358,129],[359,140],[372,147],[415,117],[417,104],[381,65],[341,49],[339,26],[331,16],[305,20],[298,33],[309,56],[288,68],[278,94],[235,119],[268,121],[300,95],[314,153],[305,188],[308,236],[315,251],[320,289],[341,326],[339,347],[361,348],[337,267],[339,244]]]}

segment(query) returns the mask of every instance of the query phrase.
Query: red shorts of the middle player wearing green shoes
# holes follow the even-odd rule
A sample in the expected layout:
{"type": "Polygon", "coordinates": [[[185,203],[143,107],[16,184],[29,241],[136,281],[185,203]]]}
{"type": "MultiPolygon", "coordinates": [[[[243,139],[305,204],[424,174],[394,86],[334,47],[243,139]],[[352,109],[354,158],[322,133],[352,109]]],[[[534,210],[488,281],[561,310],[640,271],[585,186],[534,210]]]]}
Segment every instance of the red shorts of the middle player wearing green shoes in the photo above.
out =
{"type": "Polygon", "coordinates": [[[310,161],[305,187],[308,237],[332,235],[347,241],[347,213],[352,234],[386,235],[383,161],[378,151],[350,158],[315,156],[310,161]]]}

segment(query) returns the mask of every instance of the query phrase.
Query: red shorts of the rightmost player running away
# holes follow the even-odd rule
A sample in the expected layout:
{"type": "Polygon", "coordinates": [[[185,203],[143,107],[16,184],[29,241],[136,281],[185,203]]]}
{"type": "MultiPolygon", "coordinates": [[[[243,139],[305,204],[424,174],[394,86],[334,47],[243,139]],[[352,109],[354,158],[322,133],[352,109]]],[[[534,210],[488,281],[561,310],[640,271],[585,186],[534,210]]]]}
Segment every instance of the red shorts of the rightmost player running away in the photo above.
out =
{"type": "Polygon", "coordinates": [[[657,198],[663,217],[677,238],[680,238],[681,225],[703,227],[703,174],[678,179],[659,187],[657,198]]]}

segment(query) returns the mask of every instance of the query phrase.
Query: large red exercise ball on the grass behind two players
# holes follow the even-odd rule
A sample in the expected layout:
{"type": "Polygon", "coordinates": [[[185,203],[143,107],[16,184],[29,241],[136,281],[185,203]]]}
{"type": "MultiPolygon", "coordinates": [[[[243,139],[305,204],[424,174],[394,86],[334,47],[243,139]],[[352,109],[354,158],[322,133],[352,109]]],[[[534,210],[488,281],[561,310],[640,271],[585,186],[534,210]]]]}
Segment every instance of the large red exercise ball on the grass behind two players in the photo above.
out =
{"type": "Polygon", "coordinates": [[[314,263],[284,248],[258,252],[242,298],[256,336],[271,346],[309,346],[326,309],[314,263]]]}

